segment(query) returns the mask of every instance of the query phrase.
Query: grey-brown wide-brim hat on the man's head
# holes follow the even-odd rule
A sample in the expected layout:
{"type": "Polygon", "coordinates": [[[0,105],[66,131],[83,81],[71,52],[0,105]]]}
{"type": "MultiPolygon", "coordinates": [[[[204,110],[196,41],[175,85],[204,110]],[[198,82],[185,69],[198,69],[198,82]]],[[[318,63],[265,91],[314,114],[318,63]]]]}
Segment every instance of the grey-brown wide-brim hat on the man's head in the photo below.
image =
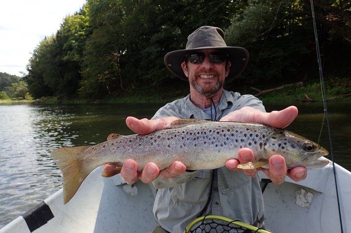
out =
{"type": "Polygon", "coordinates": [[[227,78],[239,76],[248,62],[248,52],[241,47],[229,47],[224,41],[224,32],[219,27],[201,26],[188,36],[185,50],[168,52],[164,56],[166,67],[175,76],[189,81],[182,69],[182,62],[189,52],[203,49],[223,50],[228,53],[231,62],[227,78]]]}

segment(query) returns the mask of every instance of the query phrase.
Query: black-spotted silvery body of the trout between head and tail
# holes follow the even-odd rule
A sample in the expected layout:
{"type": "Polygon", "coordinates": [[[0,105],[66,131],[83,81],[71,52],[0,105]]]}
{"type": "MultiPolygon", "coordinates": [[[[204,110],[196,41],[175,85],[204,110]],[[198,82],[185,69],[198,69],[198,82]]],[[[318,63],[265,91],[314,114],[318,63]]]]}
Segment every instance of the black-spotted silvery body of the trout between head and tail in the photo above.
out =
{"type": "Polygon", "coordinates": [[[257,124],[181,120],[170,129],[146,135],[119,135],[89,148],[79,159],[83,166],[93,167],[131,158],[137,161],[138,170],[150,161],[162,170],[176,160],[188,169],[215,169],[226,160],[237,158],[239,149],[244,147],[251,148],[257,160],[265,158],[264,143],[275,130],[257,124]],[[100,161],[92,165],[85,154],[100,161]]]}

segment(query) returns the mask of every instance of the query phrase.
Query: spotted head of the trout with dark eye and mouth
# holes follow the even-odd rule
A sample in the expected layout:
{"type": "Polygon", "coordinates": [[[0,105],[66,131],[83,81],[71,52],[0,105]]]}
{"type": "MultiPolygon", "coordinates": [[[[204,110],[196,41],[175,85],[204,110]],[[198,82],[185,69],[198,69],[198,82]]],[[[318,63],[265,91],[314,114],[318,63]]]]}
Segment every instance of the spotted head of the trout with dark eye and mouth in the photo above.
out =
{"type": "Polygon", "coordinates": [[[317,160],[328,155],[328,151],[319,144],[296,133],[279,129],[274,131],[264,144],[266,158],[271,155],[282,155],[288,168],[308,167],[321,168],[328,160],[317,160]]]}

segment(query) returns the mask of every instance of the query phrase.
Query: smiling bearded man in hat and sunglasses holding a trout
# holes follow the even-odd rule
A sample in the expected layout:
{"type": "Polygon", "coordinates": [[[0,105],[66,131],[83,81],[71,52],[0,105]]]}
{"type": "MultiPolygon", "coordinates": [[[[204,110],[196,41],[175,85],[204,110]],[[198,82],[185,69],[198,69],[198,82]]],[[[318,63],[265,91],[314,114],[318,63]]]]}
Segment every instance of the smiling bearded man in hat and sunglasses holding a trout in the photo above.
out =
{"type": "MultiPolygon", "coordinates": [[[[189,81],[190,94],[163,106],[152,120],[128,117],[126,123],[136,133],[165,129],[179,118],[256,122],[283,128],[297,116],[294,106],[266,113],[257,98],[223,89],[225,78],[236,77],[243,71],[248,52],[240,47],[227,47],[224,32],[218,27],[196,29],[189,35],[185,50],[169,52],[164,60],[174,75],[189,81]]],[[[121,175],[129,184],[140,179],[153,182],[158,188],[154,204],[158,232],[183,232],[191,220],[206,214],[259,224],[264,206],[256,170],[237,171],[239,162],[254,160],[248,148],[239,151],[239,161],[230,159],[215,170],[188,171],[183,163],[175,161],[162,171],[152,162],[137,171],[137,163],[129,159],[121,175]]],[[[286,175],[300,181],[307,174],[302,167],[287,171],[281,155],[271,156],[269,164],[270,169],[262,170],[277,184],[286,175]]]]}

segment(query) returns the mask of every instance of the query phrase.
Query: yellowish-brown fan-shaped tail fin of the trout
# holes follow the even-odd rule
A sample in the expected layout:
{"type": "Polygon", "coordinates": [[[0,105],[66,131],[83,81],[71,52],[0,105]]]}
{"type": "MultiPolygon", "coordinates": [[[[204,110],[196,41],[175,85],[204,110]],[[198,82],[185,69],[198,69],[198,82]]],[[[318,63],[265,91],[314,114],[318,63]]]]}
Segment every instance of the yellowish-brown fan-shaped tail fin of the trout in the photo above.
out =
{"type": "Polygon", "coordinates": [[[91,171],[84,171],[80,167],[78,154],[91,146],[63,147],[51,152],[54,161],[62,172],[63,177],[63,204],[68,203],[76,194],[81,183],[91,171]]]}

